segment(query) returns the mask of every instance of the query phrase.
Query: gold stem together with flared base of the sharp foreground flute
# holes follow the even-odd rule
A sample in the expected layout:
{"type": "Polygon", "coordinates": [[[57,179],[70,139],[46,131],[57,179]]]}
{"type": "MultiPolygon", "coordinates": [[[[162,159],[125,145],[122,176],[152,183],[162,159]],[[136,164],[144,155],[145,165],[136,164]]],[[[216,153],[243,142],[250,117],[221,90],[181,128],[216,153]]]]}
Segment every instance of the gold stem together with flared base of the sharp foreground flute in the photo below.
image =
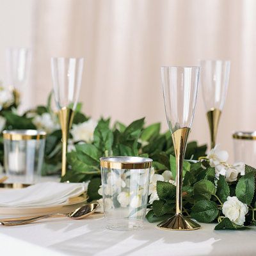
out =
{"type": "Polygon", "coordinates": [[[190,128],[184,127],[173,132],[172,140],[176,156],[176,214],[172,218],[157,225],[159,228],[167,230],[195,230],[200,225],[187,217],[182,216],[182,170],[184,155],[187,147],[190,128]]]}

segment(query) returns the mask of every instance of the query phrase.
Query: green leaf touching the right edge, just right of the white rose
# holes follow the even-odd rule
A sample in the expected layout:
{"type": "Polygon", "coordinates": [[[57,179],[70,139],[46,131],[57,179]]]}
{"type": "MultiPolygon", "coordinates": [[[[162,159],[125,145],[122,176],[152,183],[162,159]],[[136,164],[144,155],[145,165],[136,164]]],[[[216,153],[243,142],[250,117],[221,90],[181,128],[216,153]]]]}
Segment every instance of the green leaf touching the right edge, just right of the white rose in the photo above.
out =
{"type": "Polygon", "coordinates": [[[247,173],[239,179],[236,186],[236,196],[244,204],[252,203],[255,189],[255,179],[253,173],[247,173]]]}

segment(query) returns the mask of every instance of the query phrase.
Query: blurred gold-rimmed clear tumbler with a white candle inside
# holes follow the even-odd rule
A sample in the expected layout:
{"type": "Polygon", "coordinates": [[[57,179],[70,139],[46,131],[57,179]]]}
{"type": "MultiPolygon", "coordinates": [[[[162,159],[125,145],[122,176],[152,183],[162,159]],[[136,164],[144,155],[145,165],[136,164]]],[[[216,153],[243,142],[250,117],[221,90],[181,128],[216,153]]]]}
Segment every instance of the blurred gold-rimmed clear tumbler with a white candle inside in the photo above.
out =
{"type": "Polygon", "coordinates": [[[39,176],[44,161],[44,131],[36,130],[5,130],[4,138],[4,169],[12,179],[33,183],[35,174],[39,176]]]}

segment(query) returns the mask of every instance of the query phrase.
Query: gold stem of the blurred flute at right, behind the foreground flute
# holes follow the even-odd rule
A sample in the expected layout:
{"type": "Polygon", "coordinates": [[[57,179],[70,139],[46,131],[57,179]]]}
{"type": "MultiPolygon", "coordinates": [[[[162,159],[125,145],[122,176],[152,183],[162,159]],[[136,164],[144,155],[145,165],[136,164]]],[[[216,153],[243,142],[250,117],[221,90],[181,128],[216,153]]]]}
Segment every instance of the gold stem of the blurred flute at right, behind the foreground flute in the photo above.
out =
{"type": "Polygon", "coordinates": [[[207,112],[207,118],[211,133],[211,148],[214,148],[216,145],[216,138],[218,132],[218,125],[220,122],[221,111],[220,109],[212,108],[207,112]]]}

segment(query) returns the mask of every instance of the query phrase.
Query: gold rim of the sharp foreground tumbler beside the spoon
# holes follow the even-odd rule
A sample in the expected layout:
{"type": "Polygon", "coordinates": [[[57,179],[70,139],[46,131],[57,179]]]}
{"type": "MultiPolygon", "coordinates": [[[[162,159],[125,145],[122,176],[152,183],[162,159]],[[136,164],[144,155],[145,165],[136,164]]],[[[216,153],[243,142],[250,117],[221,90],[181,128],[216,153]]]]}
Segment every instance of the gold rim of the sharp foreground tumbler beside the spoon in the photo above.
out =
{"type": "Polygon", "coordinates": [[[135,156],[101,157],[100,166],[111,169],[148,169],[152,167],[152,159],[135,156]]]}

